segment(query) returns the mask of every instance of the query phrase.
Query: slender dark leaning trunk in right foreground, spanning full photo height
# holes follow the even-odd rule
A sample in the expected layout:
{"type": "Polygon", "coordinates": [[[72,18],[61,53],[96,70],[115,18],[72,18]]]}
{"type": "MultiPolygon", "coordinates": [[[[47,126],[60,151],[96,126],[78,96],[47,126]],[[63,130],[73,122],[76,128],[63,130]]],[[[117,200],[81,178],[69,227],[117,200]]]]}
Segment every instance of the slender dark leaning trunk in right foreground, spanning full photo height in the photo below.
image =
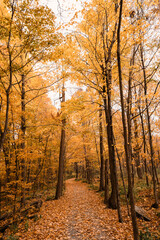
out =
{"type": "Polygon", "coordinates": [[[131,217],[132,217],[132,226],[134,240],[139,240],[138,234],[138,225],[135,212],[135,203],[133,196],[133,185],[131,180],[131,162],[128,152],[128,139],[127,139],[127,128],[126,128],[126,119],[125,119],[125,110],[124,110],[124,97],[123,97],[123,86],[122,86],[122,70],[121,70],[121,52],[120,52],[120,29],[122,21],[122,6],[123,0],[120,0],[120,10],[119,10],[119,21],[117,29],[117,61],[118,61],[118,74],[119,74],[119,88],[120,88],[120,99],[121,99],[121,109],[122,109],[122,123],[123,123],[123,134],[124,134],[124,146],[125,146],[125,155],[126,155],[126,165],[128,172],[128,188],[130,195],[130,205],[131,205],[131,217]]]}

